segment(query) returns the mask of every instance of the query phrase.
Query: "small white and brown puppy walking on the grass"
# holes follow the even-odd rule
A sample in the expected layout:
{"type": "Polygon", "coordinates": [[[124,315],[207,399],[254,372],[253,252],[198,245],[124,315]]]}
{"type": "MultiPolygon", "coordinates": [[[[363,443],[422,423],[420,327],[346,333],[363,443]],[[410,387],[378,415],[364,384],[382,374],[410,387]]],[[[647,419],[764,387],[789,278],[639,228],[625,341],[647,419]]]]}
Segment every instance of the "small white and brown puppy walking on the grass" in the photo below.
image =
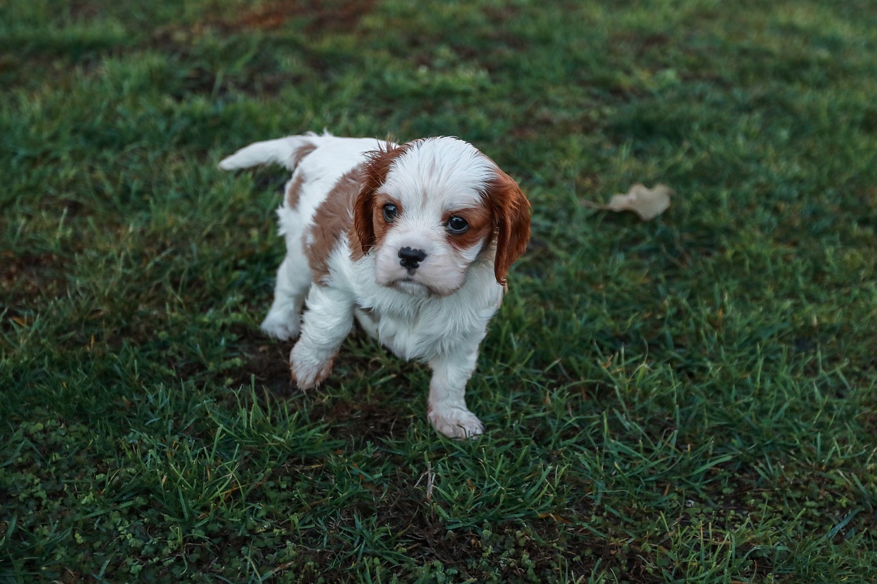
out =
{"type": "Polygon", "coordinates": [[[466,383],[530,239],[530,203],[517,183],[446,137],[399,146],[311,132],[256,142],[219,167],[267,163],[293,174],[277,211],[286,258],[261,328],[298,338],[289,356],[298,386],[326,378],[355,317],[399,357],[429,364],[427,416],[437,431],[481,434],[466,383]]]}

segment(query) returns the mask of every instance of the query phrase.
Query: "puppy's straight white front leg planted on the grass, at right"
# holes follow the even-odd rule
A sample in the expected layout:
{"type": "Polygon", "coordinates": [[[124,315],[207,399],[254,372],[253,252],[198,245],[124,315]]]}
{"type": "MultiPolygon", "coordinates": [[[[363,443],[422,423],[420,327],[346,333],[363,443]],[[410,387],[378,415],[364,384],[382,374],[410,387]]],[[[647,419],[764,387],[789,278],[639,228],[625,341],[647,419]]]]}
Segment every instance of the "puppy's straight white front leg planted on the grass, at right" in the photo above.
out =
{"type": "Polygon", "coordinates": [[[432,427],[449,438],[473,438],[484,431],[481,420],[466,407],[466,382],[477,360],[477,343],[430,360],[432,380],[427,416],[432,427]]]}

